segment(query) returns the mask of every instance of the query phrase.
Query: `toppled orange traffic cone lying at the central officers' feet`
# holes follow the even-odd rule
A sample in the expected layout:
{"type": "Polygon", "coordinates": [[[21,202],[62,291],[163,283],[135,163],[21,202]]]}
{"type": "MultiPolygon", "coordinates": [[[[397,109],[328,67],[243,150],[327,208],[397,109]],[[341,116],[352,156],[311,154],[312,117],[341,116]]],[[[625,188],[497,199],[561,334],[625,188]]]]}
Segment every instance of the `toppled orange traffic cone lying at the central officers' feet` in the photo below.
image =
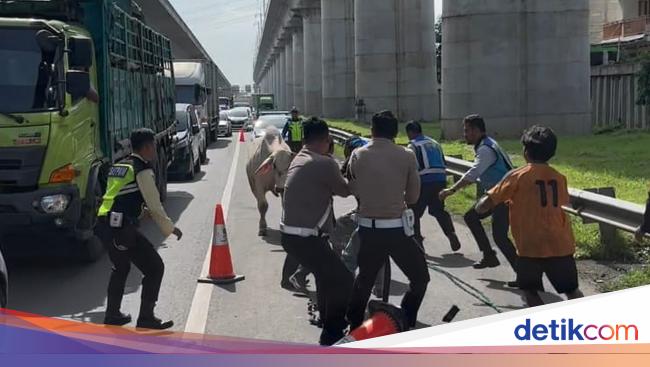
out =
{"type": "Polygon", "coordinates": [[[363,325],[352,330],[346,337],[336,342],[336,345],[406,331],[406,320],[400,308],[385,302],[373,300],[368,303],[368,310],[371,315],[370,319],[366,320],[363,325]]]}

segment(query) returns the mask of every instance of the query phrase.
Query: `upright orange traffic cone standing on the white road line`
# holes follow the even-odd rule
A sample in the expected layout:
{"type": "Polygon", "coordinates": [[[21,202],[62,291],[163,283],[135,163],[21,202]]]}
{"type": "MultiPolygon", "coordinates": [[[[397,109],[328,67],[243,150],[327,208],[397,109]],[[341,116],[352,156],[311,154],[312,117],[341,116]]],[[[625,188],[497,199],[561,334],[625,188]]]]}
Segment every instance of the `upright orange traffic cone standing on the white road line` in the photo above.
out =
{"type": "Polygon", "coordinates": [[[199,278],[199,283],[229,284],[244,280],[243,275],[236,275],[232,267],[230,246],[223,208],[217,205],[214,215],[214,232],[212,234],[212,251],[210,254],[210,272],[206,278],[199,278]]]}

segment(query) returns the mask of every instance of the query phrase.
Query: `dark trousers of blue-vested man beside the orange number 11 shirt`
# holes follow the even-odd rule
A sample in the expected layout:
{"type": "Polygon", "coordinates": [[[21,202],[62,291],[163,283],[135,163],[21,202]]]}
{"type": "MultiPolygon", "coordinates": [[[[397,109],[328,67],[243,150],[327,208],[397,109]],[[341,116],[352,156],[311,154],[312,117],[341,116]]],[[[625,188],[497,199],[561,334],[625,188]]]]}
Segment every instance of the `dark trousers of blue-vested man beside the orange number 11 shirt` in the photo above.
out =
{"type": "Polygon", "coordinates": [[[494,238],[494,242],[516,272],[518,256],[515,245],[508,237],[508,230],[510,229],[509,213],[510,210],[506,204],[500,204],[485,214],[478,214],[472,207],[470,211],[465,213],[464,218],[481,252],[484,255],[494,255],[490,240],[487,234],[485,234],[485,229],[481,223],[483,219],[492,217],[492,237],[494,238]]]}

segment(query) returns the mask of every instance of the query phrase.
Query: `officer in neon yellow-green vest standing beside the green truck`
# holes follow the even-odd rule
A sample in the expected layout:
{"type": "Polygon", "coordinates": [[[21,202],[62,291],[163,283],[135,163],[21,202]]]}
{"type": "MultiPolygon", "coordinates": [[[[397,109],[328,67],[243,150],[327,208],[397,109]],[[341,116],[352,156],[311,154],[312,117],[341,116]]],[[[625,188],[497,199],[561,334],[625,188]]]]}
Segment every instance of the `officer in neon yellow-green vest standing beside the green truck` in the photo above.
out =
{"type": "Polygon", "coordinates": [[[155,133],[139,129],[131,134],[133,154],[111,167],[106,194],[99,209],[99,230],[113,263],[108,283],[108,300],[104,323],[126,325],[131,316],[120,312],[126,279],[133,263],[144,275],[137,327],[168,329],[173,321],[163,322],[154,315],[164,264],[153,244],[140,232],[138,224],[143,214],[156,222],[163,234],[183,233],[165,213],[156,188],[151,163],[156,159],[155,133]]]}

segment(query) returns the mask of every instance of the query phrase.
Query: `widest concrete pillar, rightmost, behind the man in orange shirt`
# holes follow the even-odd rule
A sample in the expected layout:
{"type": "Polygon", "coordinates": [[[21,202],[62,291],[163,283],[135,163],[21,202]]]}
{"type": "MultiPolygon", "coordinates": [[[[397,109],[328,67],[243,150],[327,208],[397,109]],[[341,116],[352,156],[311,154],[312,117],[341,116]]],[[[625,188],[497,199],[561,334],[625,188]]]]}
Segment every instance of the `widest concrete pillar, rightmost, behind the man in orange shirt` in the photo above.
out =
{"type": "Polygon", "coordinates": [[[471,113],[496,136],[591,131],[589,0],[445,0],[443,34],[445,137],[471,113]]]}

